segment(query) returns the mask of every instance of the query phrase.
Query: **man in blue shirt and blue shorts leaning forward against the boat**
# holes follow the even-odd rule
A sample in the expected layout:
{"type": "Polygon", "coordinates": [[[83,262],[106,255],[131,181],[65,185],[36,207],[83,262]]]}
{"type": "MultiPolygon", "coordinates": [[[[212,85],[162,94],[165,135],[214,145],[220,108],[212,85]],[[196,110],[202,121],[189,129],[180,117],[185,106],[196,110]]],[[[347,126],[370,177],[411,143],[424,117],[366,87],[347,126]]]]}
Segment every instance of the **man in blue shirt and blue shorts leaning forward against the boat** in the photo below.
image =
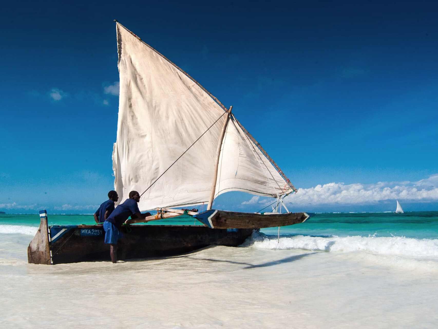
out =
{"type": "MultiPolygon", "coordinates": [[[[129,216],[131,216],[131,218],[145,218],[151,215],[148,212],[142,214],[138,209],[138,202],[140,202],[140,194],[137,191],[129,192],[129,199],[125,200],[123,204],[119,204],[103,223],[103,229],[105,230],[105,243],[109,243],[110,245],[109,254],[113,263],[117,262],[118,241],[120,240],[120,243],[126,246],[126,239],[122,232],[120,232],[122,224],[129,216]]],[[[124,257],[122,256],[122,258],[124,257]]]]}

